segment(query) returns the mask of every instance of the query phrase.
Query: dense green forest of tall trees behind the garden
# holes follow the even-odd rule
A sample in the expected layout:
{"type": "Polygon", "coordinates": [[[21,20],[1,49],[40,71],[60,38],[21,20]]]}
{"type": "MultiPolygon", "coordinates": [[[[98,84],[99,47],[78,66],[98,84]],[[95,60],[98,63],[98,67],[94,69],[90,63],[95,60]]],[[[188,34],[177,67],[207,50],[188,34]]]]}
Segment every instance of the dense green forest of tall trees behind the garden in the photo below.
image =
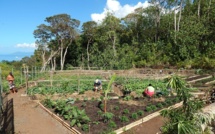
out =
{"type": "Polygon", "coordinates": [[[53,69],[99,67],[215,66],[215,0],[150,0],[124,18],[109,12],[101,23],[67,14],[47,17],[35,29],[38,49],[29,66],[53,69]]]}

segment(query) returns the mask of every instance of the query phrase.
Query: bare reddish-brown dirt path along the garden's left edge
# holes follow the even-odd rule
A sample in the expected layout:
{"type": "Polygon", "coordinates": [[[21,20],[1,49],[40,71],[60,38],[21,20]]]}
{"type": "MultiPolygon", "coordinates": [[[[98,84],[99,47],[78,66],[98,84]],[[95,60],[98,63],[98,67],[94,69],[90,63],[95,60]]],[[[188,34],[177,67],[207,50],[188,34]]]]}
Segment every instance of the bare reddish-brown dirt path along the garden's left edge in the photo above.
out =
{"type": "Polygon", "coordinates": [[[71,132],[51,117],[40,106],[24,94],[24,89],[8,95],[13,111],[15,134],[70,134],[71,132]]]}

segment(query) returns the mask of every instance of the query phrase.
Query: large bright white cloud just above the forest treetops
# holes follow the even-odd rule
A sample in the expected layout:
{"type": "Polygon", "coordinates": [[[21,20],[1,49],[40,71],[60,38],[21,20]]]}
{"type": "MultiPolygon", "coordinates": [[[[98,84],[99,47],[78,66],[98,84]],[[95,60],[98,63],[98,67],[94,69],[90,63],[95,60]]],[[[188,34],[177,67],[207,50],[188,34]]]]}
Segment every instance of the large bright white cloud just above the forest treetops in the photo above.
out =
{"type": "Polygon", "coordinates": [[[134,12],[134,10],[139,7],[146,8],[148,6],[149,6],[148,1],[145,1],[144,3],[138,2],[136,5],[126,4],[122,6],[118,0],[107,0],[104,11],[102,13],[91,14],[91,18],[95,22],[102,22],[107,12],[112,12],[113,15],[117,18],[123,18],[129,13],[134,12]]]}

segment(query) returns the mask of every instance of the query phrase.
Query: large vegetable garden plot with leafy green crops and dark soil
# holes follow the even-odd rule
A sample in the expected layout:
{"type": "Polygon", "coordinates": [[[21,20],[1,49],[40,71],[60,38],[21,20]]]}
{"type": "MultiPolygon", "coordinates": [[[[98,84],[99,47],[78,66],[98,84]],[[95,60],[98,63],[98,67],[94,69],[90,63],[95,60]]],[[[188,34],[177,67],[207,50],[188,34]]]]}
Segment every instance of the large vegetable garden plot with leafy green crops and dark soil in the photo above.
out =
{"type": "Polygon", "coordinates": [[[35,99],[39,98],[45,107],[71,127],[81,133],[92,134],[113,132],[180,101],[177,97],[169,96],[163,79],[116,75],[111,88],[118,88],[123,95],[111,99],[112,95],[117,95],[108,92],[107,108],[104,110],[105,90],[112,75],[112,72],[50,73],[41,80],[29,81],[29,85],[36,86],[29,87],[27,93],[35,99]],[[100,93],[93,91],[95,79],[102,80],[103,90],[100,93]],[[149,83],[163,93],[150,101],[142,96],[149,83]]]}

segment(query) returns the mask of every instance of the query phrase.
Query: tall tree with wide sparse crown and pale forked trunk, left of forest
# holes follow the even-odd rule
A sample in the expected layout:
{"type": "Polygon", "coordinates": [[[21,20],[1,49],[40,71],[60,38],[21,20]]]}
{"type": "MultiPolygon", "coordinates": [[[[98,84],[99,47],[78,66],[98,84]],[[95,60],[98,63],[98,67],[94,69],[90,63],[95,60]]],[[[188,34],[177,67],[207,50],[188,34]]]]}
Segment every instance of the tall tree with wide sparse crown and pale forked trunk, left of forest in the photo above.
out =
{"type": "Polygon", "coordinates": [[[63,70],[68,47],[78,36],[77,29],[80,25],[80,21],[72,19],[68,14],[47,17],[45,21],[50,24],[50,33],[58,43],[60,50],[60,65],[61,70],[63,70]]]}

